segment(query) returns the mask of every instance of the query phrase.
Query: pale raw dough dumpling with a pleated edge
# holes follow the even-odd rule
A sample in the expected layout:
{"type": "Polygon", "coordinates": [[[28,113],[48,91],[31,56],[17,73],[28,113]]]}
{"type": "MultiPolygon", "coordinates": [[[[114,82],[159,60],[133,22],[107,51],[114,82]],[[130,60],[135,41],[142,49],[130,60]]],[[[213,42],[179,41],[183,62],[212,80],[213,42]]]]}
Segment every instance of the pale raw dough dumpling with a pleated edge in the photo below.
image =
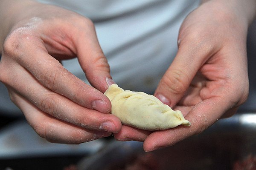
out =
{"type": "Polygon", "coordinates": [[[179,110],[172,110],[153,95],[124,90],[116,84],[109,86],[105,95],[111,101],[111,113],[116,115],[122,124],[143,130],[165,130],[180,124],[191,124],[179,110]]]}

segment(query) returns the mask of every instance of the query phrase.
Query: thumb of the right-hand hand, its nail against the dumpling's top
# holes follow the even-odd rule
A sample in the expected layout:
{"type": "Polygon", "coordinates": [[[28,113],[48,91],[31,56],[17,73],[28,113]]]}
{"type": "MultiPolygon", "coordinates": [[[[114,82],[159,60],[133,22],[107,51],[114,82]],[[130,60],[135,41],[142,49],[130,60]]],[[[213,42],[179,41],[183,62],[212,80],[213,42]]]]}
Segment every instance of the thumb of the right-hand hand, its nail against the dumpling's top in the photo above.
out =
{"type": "Polygon", "coordinates": [[[164,104],[175,106],[209,56],[210,52],[205,49],[209,48],[203,48],[195,43],[180,42],[177,55],[160,80],[154,95],[164,104]]]}

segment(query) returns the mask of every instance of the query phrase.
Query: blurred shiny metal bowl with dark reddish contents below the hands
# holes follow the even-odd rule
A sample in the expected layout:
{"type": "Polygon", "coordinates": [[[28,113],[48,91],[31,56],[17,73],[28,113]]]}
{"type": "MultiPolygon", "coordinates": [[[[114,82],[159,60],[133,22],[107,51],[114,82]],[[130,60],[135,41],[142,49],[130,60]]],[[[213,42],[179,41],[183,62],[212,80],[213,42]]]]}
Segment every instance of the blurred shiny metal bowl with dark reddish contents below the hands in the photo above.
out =
{"type": "Polygon", "coordinates": [[[230,170],[235,163],[256,155],[256,114],[219,120],[203,133],[172,147],[145,153],[136,141],[110,144],[78,164],[79,170],[230,170]]]}

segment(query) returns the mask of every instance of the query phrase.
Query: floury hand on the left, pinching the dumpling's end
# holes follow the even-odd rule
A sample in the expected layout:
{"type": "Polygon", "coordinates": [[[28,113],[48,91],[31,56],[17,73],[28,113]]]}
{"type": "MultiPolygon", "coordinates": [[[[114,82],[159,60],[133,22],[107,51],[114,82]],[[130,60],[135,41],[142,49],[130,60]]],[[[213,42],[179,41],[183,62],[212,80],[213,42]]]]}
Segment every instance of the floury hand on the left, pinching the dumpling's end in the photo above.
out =
{"type": "Polygon", "coordinates": [[[2,24],[7,36],[1,35],[6,38],[0,81],[38,135],[52,142],[81,143],[118,132],[121,123],[109,114],[111,102],[103,94],[106,78],[111,78],[109,65],[93,23],[29,0],[1,3],[13,13],[2,24]],[[95,88],[59,62],[76,56],[95,88]]]}

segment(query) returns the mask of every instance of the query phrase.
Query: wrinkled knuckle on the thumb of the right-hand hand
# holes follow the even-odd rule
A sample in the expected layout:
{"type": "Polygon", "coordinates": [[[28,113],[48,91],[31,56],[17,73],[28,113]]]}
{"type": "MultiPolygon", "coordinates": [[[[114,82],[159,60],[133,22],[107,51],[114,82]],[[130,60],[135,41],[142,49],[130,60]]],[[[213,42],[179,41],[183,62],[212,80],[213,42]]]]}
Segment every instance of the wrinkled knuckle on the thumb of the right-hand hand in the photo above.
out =
{"type": "Polygon", "coordinates": [[[189,78],[185,72],[173,70],[171,74],[163,76],[161,81],[168,88],[169,92],[178,95],[186,91],[189,78]]]}

